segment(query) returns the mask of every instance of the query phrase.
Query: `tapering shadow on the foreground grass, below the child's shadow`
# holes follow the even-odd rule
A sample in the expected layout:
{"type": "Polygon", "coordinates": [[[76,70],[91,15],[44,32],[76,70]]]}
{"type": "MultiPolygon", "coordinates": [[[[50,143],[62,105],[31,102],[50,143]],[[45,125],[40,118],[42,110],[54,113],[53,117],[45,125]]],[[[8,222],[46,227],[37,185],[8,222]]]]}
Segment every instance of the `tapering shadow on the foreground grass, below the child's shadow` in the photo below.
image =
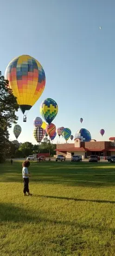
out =
{"type": "MultiPolygon", "coordinates": [[[[114,228],[108,228],[106,226],[100,226],[94,224],[84,224],[79,223],[77,220],[66,221],[66,220],[57,220],[54,216],[49,216],[49,212],[44,212],[41,210],[31,211],[23,207],[15,206],[12,203],[0,203],[0,226],[5,223],[10,222],[11,224],[16,223],[17,228],[21,228],[25,223],[33,223],[40,225],[43,223],[43,226],[46,226],[46,223],[51,225],[65,225],[71,226],[74,228],[81,229],[94,229],[97,231],[111,231],[115,234],[114,228]]],[[[15,229],[15,226],[14,226],[15,229]]]]}

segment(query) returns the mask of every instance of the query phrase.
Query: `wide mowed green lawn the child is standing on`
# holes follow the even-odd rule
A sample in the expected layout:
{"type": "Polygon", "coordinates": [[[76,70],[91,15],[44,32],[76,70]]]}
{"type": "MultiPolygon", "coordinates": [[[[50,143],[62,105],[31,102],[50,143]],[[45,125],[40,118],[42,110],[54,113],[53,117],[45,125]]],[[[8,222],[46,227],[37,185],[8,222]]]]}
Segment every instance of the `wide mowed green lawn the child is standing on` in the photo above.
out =
{"type": "Polygon", "coordinates": [[[115,256],[115,165],[0,164],[0,256],[115,256]]]}

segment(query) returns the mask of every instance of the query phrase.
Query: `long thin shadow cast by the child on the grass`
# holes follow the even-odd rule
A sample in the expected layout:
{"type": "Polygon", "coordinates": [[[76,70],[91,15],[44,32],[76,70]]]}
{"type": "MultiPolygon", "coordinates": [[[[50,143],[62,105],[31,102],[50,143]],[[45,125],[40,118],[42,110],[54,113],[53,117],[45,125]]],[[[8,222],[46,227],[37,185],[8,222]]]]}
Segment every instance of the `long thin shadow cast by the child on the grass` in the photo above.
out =
{"type": "Polygon", "coordinates": [[[97,202],[97,203],[115,203],[115,201],[109,200],[93,200],[93,199],[82,199],[82,198],[74,198],[74,197],[61,197],[61,196],[53,196],[53,195],[32,195],[32,197],[46,197],[46,198],[55,198],[55,199],[63,199],[63,200],[74,200],[77,202],[97,202]]]}

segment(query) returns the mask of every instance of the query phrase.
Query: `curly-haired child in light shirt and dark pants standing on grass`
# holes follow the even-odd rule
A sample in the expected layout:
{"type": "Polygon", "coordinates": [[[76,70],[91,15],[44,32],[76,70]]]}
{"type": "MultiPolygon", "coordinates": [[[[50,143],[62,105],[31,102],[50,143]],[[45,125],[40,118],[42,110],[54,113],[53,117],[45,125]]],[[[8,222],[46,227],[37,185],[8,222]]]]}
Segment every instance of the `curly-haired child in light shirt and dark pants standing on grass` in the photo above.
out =
{"type": "Polygon", "coordinates": [[[28,183],[29,183],[29,176],[30,174],[28,173],[28,167],[30,166],[30,162],[29,161],[25,161],[22,163],[22,177],[23,177],[23,182],[24,182],[24,195],[26,196],[26,192],[28,193],[28,195],[32,195],[29,191],[28,188],[28,183]]]}

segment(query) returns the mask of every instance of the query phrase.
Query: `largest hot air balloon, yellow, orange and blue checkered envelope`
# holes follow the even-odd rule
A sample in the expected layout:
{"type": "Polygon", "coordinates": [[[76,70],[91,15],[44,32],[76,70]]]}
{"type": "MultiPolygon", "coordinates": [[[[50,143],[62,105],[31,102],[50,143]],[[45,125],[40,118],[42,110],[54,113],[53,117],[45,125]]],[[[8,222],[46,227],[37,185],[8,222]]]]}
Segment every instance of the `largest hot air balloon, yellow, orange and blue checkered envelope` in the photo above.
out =
{"type": "Polygon", "coordinates": [[[5,79],[17,97],[24,114],[32,108],[45,88],[45,71],[40,63],[29,55],[14,58],[6,67],[5,79]]]}

